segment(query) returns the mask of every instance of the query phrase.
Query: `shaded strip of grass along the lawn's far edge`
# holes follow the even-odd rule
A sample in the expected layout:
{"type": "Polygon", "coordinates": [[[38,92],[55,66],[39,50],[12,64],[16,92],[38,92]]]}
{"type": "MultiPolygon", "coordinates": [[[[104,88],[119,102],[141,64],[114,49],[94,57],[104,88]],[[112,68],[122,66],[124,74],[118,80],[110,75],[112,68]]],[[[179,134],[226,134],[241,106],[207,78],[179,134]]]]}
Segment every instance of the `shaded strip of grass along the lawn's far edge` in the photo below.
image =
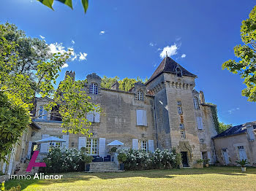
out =
{"type": "MultiPolygon", "coordinates": [[[[61,174],[61,173],[60,173],[61,174]]],[[[84,173],[84,172],[73,172],[64,174],[60,180],[12,180],[6,182],[6,186],[10,187],[17,186],[20,184],[22,189],[25,189],[30,184],[48,185],[58,183],[72,183],[78,181],[91,181],[92,179],[121,179],[129,177],[146,177],[150,179],[173,179],[176,175],[201,175],[201,174],[222,174],[227,176],[247,176],[247,174],[256,174],[256,168],[247,168],[246,173],[241,173],[239,167],[215,167],[196,169],[196,168],[182,168],[182,169],[171,169],[171,170],[145,170],[145,171],[125,171],[124,173],[84,173]]]]}

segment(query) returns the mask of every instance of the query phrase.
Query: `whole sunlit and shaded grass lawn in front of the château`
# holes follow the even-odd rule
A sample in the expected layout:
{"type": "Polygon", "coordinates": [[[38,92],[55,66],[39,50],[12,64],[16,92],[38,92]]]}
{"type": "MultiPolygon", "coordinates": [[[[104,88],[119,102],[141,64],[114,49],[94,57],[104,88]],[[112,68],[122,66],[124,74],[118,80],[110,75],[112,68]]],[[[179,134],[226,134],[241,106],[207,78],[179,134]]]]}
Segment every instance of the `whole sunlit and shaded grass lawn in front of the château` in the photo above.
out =
{"type": "Polygon", "coordinates": [[[61,180],[12,180],[23,190],[256,190],[256,168],[238,167],[127,171],[124,173],[67,173],[61,180]]]}

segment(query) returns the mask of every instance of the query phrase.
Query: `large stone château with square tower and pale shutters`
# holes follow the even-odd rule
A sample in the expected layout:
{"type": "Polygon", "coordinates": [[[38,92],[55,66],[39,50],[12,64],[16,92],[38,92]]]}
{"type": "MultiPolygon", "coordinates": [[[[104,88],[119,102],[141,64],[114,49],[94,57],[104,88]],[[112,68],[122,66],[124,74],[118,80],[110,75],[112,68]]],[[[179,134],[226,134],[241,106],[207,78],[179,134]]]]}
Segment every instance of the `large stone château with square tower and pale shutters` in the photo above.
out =
{"type": "MultiPolygon", "coordinates": [[[[75,80],[75,72],[66,71],[75,80]]],[[[66,140],[60,144],[41,144],[44,155],[53,147],[80,149],[86,147],[89,155],[108,155],[107,144],[118,140],[123,147],[146,149],[172,149],[181,152],[184,167],[197,166],[196,160],[215,161],[212,137],[217,135],[211,107],[205,103],[203,92],[195,90],[195,74],[166,57],[146,84],[136,82],[128,92],[118,90],[118,82],[110,89],[102,88],[101,78],[87,75],[86,93],[99,104],[102,112],[87,114],[92,122],[87,138],[81,134],[62,133],[61,119],[45,112],[48,98],[37,98],[33,121],[34,128],[26,137],[24,152],[15,160],[30,157],[37,146],[35,141],[56,136],[66,140]],[[36,128],[35,128],[36,127],[36,128]]]]}

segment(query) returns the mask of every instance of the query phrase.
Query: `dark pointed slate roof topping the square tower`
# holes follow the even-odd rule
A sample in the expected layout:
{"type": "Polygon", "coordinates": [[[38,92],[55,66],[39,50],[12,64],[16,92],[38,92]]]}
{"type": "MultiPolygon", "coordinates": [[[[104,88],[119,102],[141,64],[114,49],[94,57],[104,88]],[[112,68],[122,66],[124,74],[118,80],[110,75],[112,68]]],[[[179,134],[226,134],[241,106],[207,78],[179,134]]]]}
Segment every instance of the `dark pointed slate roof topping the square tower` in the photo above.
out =
{"type": "MultiPolygon", "coordinates": [[[[187,71],[187,69],[184,69],[181,65],[176,63],[176,61],[167,56],[162,60],[162,62],[157,67],[156,71],[154,71],[154,74],[152,74],[150,79],[148,79],[148,82],[151,82],[156,77],[159,77],[159,75],[162,73],[176,74],[177,66],[181,69],[183,76],[197,77],[195,74],[187,71]]],[[[146,84],[148,84],[148,82],[146,82],[146,84]]]]}

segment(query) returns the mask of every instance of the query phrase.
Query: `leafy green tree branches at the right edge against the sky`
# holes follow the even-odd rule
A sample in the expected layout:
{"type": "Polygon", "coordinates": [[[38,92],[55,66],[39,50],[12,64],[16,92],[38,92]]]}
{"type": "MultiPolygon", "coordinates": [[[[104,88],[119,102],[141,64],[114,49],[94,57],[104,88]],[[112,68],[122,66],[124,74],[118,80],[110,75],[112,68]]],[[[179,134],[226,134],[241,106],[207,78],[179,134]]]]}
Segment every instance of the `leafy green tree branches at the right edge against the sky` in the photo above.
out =
{"type": "Polygon", "coordinates": [[[246,85],[242,95],[246,96],[248,101],[256,101],[256,6],[249,18],[242,22],[241,40],[244,44],[234,47],[234,53],[239,59],[226,61],[222,64],[222,69],[241,75],[246,85]]]}

